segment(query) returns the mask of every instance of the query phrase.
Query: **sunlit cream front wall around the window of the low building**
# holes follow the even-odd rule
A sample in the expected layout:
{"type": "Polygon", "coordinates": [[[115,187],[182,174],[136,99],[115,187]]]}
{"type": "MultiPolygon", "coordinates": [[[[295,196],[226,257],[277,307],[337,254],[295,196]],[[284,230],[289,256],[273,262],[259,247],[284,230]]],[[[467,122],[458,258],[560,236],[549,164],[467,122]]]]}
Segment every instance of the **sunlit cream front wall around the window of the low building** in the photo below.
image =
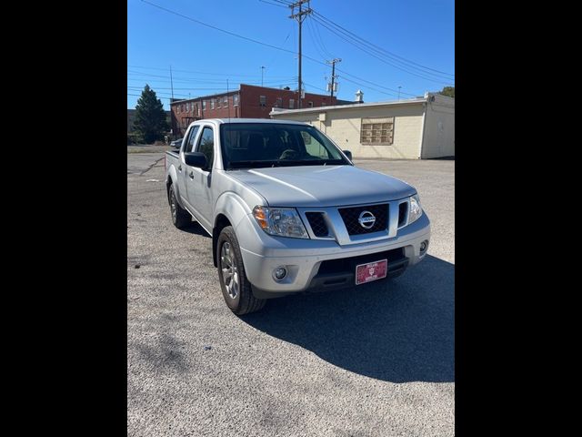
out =
{"type": "Polygon", "coordinates": [[[424,107],[422,102],[385,107],[348,107],[321,113],[274,114],[272,118],[305,121],[319,128],[354,158],[406,158],[419,157],[424,107]],[[360,144],[360,126],[363,117],[395,117],[394,142],[391,146],[363,146],[360,144]]]}

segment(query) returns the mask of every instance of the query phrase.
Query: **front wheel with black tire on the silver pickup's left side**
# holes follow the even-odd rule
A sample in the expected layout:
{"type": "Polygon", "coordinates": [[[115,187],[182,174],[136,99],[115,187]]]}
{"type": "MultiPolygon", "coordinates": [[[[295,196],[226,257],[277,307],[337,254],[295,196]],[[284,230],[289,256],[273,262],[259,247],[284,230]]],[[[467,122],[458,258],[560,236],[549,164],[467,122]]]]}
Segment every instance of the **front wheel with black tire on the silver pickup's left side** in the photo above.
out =
{"type": "Polygon", "coordinates": [[[228,308],[238,316],[262,310],[266,300],[256,299],[253,295],[251,283],[246,279],[238,239],[232,226],[222,229],[218,236],[216,260],[220,288],[228,308]]]}

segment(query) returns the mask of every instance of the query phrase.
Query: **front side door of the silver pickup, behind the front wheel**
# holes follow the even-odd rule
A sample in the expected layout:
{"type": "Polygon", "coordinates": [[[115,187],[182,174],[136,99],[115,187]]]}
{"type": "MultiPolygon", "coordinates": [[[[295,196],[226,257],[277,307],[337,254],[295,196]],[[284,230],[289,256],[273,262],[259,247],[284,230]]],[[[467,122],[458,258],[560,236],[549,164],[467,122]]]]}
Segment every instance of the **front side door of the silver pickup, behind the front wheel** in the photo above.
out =
{"type": "Polygon", "coordinates": [[[197,219],[206,229],[212,229],[212,167],[214,164],[215,132],[210,126],[202,127],[202,133],[196,139],[195,152],[202,152],[206,155],[206,168],[187,168],[186,191],[188,198],[192,200],[197,219]]]}

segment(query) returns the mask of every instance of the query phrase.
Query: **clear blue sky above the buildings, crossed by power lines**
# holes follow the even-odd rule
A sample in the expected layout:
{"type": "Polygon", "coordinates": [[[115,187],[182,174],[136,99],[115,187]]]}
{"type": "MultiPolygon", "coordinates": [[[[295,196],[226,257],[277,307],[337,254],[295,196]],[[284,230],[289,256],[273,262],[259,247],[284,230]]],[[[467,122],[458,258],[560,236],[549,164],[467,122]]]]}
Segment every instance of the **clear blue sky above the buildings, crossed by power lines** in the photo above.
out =
{"type": "MultiPolygon", "coordinates": [[[[265,86],[296,88],[298,25],[283,5],[291,0],[147,1],[294,53],[226,35],[141,0],[128,0],[128,108],[135,107],[147,83],[168,109],[170,66],[175,97],[226,91],[226,79],[229,89],[240,83],[261,85],[261,71],[265,86]]],[[[454,85],[453,0],[312,0],[310,6],[316,14],[306,17],[302,36],[307,92],[327,94],[331,66],[325,63],[334,57],[342,59],[336,64],[336,96],[345,100],[354,100],[358,88],[366,102],[378,102],[396,100],[398,90],[400,98],[410,98],[454,85]]]]}

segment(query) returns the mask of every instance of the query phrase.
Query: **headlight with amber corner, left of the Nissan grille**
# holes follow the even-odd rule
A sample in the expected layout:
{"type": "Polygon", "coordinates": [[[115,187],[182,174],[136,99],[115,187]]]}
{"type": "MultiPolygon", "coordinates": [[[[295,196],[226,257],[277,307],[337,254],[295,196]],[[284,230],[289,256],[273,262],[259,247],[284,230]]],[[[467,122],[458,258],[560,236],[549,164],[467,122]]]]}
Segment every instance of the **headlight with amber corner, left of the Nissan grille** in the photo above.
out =
{"type": "Polygon", "coordinates": [[[295,208],[270,208],[256,206],[253,209],[258,226],[269,235],[308,239],[306,227],[295,208]]]}

